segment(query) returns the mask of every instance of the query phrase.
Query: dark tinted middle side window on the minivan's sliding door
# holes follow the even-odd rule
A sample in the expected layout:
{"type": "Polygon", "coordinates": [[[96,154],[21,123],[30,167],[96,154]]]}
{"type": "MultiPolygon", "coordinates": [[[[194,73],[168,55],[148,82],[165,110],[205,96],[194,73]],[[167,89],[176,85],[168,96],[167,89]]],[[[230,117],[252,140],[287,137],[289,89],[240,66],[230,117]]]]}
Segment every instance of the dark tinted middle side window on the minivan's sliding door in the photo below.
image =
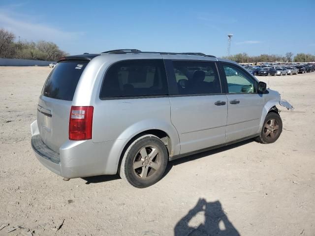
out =
{"type": "Polygon", "coordinates": [[[173,61],[179,95],[221,93],[214,62],[173,61]]]}

